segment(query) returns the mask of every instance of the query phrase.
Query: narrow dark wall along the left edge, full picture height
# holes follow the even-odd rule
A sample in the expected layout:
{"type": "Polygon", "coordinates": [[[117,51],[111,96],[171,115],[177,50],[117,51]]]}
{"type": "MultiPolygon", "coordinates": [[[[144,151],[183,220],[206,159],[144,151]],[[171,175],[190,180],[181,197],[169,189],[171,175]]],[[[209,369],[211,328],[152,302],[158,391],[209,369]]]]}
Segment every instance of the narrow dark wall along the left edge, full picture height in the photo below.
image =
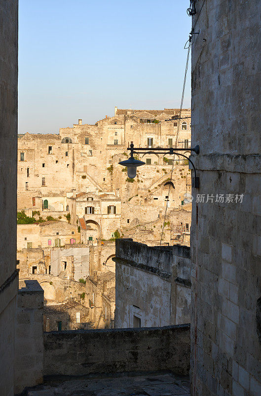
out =
{"type": "Polygon", "coordinates": [[[0,395],[13,396],[17,186],[18,1],[0,1],[0,395]]]}

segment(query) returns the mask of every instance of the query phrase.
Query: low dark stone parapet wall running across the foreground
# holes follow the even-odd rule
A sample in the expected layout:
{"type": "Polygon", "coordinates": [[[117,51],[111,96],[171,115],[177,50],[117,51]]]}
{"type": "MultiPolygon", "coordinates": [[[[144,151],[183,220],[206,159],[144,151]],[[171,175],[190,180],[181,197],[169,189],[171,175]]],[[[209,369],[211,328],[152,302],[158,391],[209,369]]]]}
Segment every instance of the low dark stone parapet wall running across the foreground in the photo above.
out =
{"type": "Polygon", "coordinates": [[[44,375],[189,370],[189,325],[44,333],[44,375]]]}

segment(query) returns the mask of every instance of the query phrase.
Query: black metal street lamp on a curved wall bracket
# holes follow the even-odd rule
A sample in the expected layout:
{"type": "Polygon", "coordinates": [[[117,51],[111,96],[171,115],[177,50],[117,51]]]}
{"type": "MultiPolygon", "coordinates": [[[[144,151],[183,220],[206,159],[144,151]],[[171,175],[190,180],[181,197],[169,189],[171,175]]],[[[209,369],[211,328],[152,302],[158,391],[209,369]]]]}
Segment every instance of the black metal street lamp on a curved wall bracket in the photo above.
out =
{"type": "MultiPolygon", "coordinates": [[[[145,152],[145,154],[146,154],[147,153],[146,151],[148,151],[148,148],[142,148],[142,147],[134,148],[134,145],[132,143],[130,145],[130,148],[127,148],[127,150],[130,150],[130,152],[131,152],[130,158],[126,159],[125,161],[119,162],[119,165],[126,166],[128,177],[130,179],[134,179],[137,175],[137,166],[145,165],[145,162],[139,161],[138,159],[133,158],[133,154],[134,153],[137,154],[137,151],[145,152]]],[[[194,148],[186,148],[186,150],[194,151],[196,154],[199,154],[199,146],[198,145],[195,146],[194,148]]],[[[191,163],[191,165],[193,166],[193,169],[194,169],[194,177],[191,178],[192,187],[194,187],[195,189],[199,188],[199,177],[197,177],[196,168],[195,168],[193,162],[186,155],[177,153],[177,151],[184,151],[184,148],[159,148],[158,147],[158,148],[153,148],[153,151],[148,151],[148,153],[155,154],[154,151],[161,151],[161,152],[158,152],[158,154],[170,154],[170,155],[177,154],[177,155],[181,155],[181,156],[185,157],[191,163]]]]}

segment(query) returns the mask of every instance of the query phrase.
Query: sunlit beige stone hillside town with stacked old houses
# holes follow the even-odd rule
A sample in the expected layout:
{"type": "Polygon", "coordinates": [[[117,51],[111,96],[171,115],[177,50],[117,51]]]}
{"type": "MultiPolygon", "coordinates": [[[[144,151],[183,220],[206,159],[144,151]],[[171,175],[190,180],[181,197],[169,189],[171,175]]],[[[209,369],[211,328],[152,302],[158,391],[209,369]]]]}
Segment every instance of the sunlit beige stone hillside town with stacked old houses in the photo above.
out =
{"type": "Polygon", "coordinates": [[[189,246],[188,160],[153,148],[182,148],[189,156],[190,141],[190,109],[180,115],[166,108],[115,107],[95,125],[79,119],[59,135],[18,136],[19,279],[37,280],[44,290],[46,329],[114,327],[116,239],[189,246]],[[148,148],[136,154],[145,162],[137,179],[119,164],[133,143],[148,148]]]}

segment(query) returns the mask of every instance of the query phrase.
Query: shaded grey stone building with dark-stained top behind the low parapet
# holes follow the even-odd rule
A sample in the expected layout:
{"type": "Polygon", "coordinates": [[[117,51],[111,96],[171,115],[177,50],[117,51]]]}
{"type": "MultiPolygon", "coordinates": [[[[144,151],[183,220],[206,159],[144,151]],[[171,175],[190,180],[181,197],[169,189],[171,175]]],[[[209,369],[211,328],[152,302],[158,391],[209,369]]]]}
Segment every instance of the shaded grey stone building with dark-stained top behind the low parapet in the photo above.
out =
{"type": "Polygon", "coordinates": [[[190,249],[116,241],[115,327],[190,322],[190,249]]]}

